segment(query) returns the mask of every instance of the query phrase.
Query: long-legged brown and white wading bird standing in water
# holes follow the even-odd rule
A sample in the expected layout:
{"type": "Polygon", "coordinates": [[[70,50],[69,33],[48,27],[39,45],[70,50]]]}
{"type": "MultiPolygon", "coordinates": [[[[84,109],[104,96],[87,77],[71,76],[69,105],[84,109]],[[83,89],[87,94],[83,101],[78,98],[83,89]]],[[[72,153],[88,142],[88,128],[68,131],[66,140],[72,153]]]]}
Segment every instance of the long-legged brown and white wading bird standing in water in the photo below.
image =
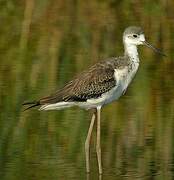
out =
{"type": "Polygon", "coordinates": [[[106,104],[118,100],[125,94],[130,82],[139,68],[140,60],[137,46],[145,45],[156,53],[165,54],[145,40],[145,34],[139,26],[129,26],[123,32],[124,54],[107,58],[77,75],[62,88],[46,97],[35,101],[24,102],[28,110],[40,107],[39,110],[60,110],[79,106],[92,110],[92,118],[85,141],[86,172],[90,172],[90,142],[94,124],[97,125],[96,154],[98,172],[102,174],[101,161],[101,109],[106,104]]]}

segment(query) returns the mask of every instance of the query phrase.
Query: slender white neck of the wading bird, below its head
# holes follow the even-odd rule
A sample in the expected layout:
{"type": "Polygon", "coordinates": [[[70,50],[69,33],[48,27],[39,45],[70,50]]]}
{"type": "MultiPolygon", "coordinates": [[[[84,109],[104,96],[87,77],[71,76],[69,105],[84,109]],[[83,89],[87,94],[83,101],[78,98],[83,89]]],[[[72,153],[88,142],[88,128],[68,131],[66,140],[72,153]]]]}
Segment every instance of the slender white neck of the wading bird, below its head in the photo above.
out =
{"type": "Polygon", "coordinates": [[[137,46],[134,44],[124,43],[124,48],[125,48],[124,54],[126,56],[129,56],[131,61],[139,63],[137,46]]]}

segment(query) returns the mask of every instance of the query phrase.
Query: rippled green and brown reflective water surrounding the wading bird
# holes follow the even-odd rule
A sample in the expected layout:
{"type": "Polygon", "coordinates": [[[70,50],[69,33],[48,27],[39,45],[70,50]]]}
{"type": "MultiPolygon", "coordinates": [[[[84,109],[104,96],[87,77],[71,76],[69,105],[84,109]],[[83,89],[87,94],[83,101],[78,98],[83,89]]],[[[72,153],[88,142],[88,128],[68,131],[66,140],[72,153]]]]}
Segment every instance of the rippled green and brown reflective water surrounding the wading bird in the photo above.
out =
{"type": "Polygon", "coordinates": [[[174,2],[0,2],[0,179],[173,179],[174,2]],[[95,134],[91,174],[84,142],[91,113],[22,111],[90,65],[122,53],[122,32],[141,25],[166,58],[139,49],[141,66],[125,96],[102,110],[104,174],[95,134]]]}

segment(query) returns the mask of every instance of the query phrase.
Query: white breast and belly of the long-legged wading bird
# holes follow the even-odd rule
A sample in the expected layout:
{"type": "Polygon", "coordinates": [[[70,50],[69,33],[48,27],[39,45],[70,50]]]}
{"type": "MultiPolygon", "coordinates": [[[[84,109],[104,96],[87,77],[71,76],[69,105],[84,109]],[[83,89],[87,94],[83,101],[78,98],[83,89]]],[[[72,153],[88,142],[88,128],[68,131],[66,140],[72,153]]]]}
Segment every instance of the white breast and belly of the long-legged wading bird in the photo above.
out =
{"type": "Polygon", "coordinates": [[[97,99],[89,99],[84,103],[78,103],[77,105],[85,109],[96,108],[98,106],[103,106],[114,100],[117,100],[126,91],[131,80],[135,76],[138,70],[139,63],[133,63],[132,69],[128,70],[128,67],[124,69],[115,69],[115,80],[116,86],[112,88],[107,93],[104,93],[101,97],[97,99]]]}

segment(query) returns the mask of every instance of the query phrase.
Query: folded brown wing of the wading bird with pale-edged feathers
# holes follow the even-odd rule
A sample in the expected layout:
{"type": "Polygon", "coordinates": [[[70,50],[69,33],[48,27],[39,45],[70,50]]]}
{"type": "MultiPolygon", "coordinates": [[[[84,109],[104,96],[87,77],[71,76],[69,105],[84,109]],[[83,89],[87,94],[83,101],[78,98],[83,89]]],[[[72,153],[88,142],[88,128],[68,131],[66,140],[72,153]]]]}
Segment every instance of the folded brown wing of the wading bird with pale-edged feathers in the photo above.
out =
{"type": "Polygon", "coordinates": [[[115,85],[114,68],[106,61],[100,62],[92,66],[89,71],[81,73],[56,93],[40,99],[40,104],[61,101],[84,102],[87,99],[100,97],[115,85]]]}

